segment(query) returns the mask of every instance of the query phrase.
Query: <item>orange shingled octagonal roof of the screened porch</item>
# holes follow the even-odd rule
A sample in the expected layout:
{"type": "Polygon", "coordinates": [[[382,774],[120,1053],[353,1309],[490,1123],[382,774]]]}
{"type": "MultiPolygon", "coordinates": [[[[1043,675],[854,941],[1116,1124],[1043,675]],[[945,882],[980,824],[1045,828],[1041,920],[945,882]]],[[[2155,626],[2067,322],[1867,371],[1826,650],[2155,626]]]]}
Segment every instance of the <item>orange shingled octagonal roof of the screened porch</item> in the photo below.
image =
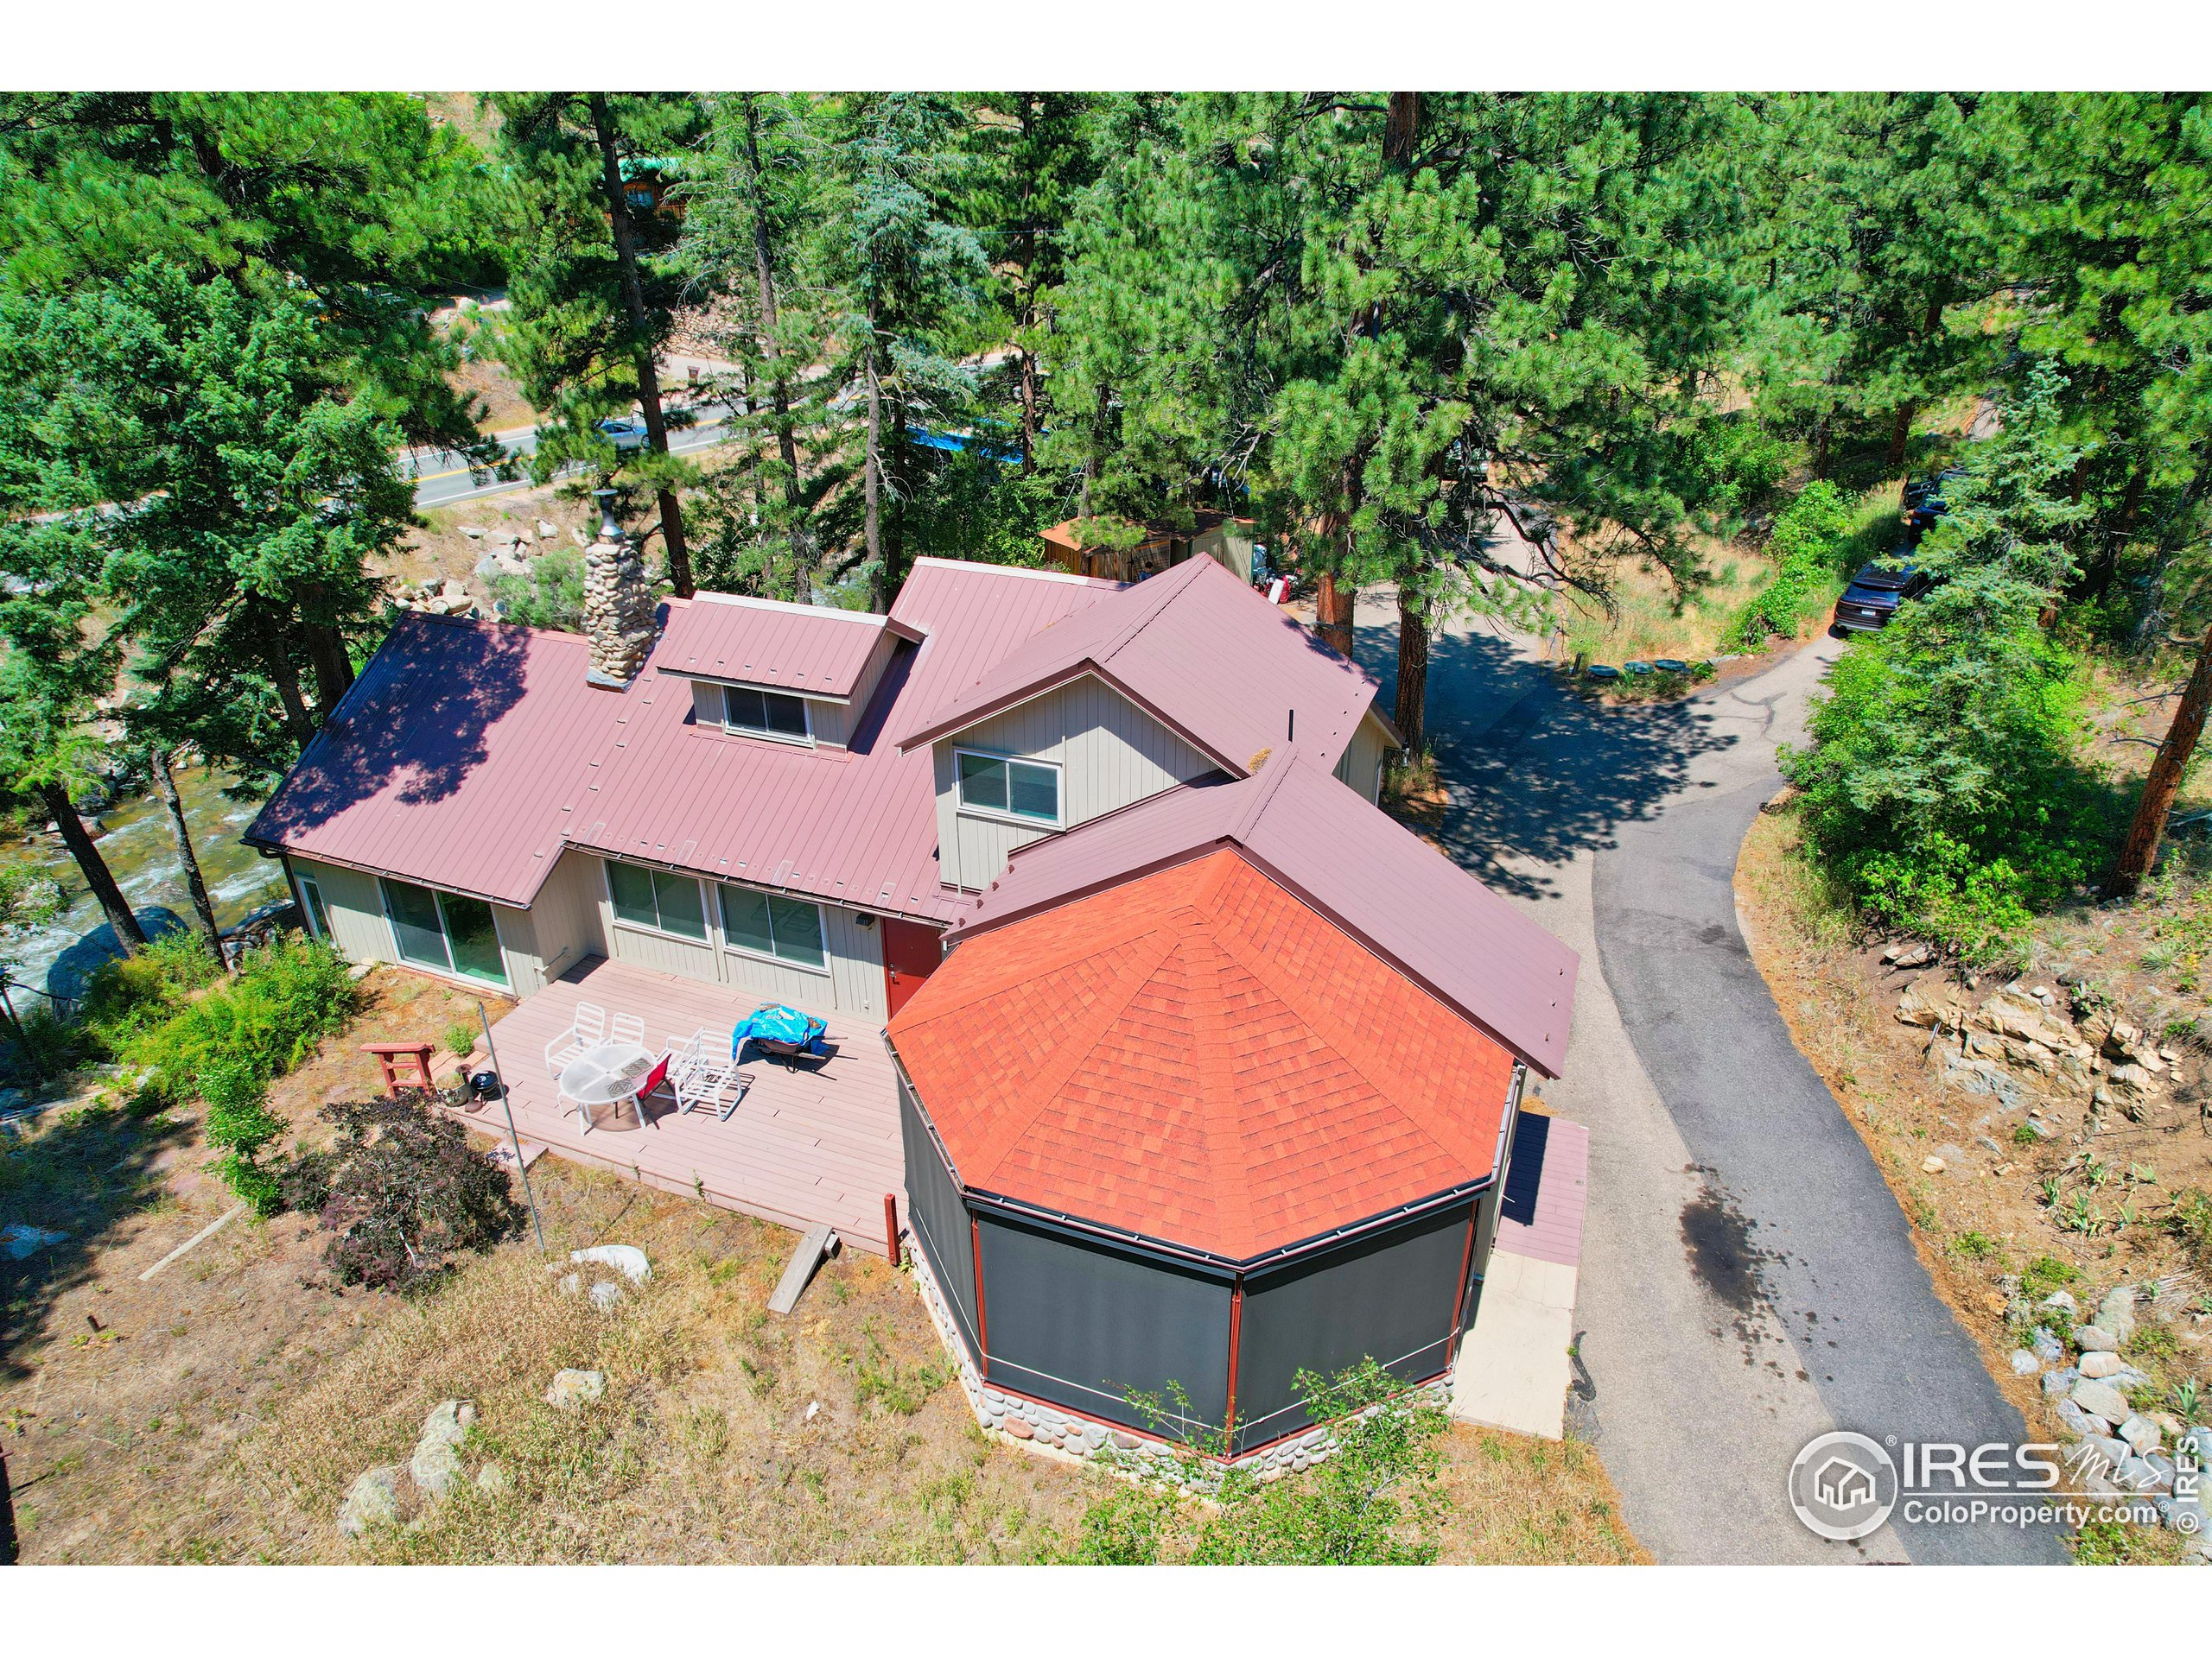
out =
{"type": "Polygon", "coordinates": [[[969,1187],[1232,1260],[1489,1178],[1513,1079],[1239,849],[969,940],[889,1035],[969,1187]]]}

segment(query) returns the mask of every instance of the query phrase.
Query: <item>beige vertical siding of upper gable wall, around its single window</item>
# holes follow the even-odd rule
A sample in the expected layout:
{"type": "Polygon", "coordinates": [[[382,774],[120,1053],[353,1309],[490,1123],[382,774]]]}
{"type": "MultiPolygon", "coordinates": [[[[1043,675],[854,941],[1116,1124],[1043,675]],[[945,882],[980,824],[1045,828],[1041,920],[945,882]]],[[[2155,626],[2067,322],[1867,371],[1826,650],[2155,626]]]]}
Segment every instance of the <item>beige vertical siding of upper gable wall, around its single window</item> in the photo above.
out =
{"type": "Polygon", "coordinates": [[[936,745],[938,856],[945,884],[969,891],[989,886],[1013,847],[1051,831],[960,811],[953,787],[956,749],[1055,760],[1064,829],[1217,769],[1166,725],[1088,674],[947,736],[936,745]]]}

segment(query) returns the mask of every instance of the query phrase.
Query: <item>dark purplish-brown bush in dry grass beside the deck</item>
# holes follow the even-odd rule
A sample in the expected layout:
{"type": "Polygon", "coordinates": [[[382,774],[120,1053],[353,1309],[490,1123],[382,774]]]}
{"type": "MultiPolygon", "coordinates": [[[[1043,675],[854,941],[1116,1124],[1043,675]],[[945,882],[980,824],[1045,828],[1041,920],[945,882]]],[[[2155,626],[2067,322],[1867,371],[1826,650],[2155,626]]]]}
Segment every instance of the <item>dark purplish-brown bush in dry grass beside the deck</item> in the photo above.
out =
{"type": "Polygon", "coordinates": [[[341,1284],[431,1289],[467,1249],[491,1249],[522,1227],[507,1172],[469,1145],[434,1094],[325,1105],[338,1141],[283,1174],[283,1194],[314,1207],[336,1236],[323,1262],[341,1284]]]}

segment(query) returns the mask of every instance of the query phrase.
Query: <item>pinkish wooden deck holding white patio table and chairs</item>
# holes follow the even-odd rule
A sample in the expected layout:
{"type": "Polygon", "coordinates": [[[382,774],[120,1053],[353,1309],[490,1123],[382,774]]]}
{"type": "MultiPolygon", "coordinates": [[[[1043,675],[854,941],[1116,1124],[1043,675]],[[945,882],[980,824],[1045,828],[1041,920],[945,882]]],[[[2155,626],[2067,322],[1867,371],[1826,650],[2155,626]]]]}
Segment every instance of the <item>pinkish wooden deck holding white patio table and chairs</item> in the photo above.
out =
{"type": "MultiPolygon", "coordinates": [[[[608,1015],[639,1015],[655,1052],[699,1026],[730,1030],[759,1006],[745,990],[586,957],[491,1028],[524,1141],[785,1227],[827,1222],[849,1245],[887,1253],[883,1196],[898,1194],[902,1216],[907,1172],[898,1081],[874,1024],[807,1008],[830,1024],[832,1057],[785,1068],[748,1052],[752,1088],[728,1123],[708,1110],[679,1116],[664,1090],[646,1103],[644,1127],[599,1121],[582,1134],[575,1112],[560,1110],[560,1090],[544,1066],[546,1043],[568,1028],[577,1001],[595,1001],[608,1015]]],[[[467,1121],[507,1132],[495,1105],[467,1121]]]]}

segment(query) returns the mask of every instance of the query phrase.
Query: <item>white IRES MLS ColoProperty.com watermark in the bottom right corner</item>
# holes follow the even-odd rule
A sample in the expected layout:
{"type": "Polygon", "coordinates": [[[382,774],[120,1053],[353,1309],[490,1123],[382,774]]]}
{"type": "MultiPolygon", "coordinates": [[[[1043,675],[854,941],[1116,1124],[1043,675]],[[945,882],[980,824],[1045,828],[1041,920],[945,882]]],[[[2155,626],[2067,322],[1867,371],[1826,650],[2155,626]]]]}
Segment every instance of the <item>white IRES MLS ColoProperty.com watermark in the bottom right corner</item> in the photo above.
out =
{"type": "Polygon", "coordinates": [[[1790,1508],[1816,1536],[1856,1543],[1891,1514],[1909,1525],[2081,1525],[2090,1519],[2203,1528],[2203,1468],[2194,1441],[2172,1463],[2115,1466],[2084,1441],[1980,1446],[1940,1439],[1887,1441],[1823,1433],[1790,1463],[1790,1508]]]}

